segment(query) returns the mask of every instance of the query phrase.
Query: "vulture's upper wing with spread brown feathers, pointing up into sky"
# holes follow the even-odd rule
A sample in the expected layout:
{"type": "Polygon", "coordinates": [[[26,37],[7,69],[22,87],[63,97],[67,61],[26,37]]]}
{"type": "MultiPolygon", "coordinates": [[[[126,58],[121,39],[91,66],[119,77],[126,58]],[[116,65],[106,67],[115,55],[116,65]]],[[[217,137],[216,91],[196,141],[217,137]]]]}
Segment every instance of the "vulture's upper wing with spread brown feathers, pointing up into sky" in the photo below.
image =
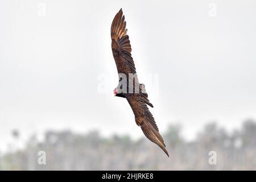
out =
{"type": "Polygon", "coordinates": [[[133,57],[131,57],[131,44],[126,35],[126,22],[122,9],[115,15],[111,26],[112,52],[117,65],[118,73],[136,73],[133,57]]]}

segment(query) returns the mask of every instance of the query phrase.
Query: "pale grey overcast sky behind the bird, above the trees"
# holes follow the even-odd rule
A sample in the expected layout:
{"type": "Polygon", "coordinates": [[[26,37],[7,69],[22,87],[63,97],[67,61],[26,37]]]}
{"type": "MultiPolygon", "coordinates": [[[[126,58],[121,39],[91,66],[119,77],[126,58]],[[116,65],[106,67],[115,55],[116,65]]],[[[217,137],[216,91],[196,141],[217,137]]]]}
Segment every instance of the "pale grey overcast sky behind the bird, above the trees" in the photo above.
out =
{"type": "Polygon", "coordinates": [[[256,1],[1,1],[0,151],[18,129],[143,135],[118,84],[110,26],[122,7],[160,132],[195,137],[256,118],[256,1]]]}

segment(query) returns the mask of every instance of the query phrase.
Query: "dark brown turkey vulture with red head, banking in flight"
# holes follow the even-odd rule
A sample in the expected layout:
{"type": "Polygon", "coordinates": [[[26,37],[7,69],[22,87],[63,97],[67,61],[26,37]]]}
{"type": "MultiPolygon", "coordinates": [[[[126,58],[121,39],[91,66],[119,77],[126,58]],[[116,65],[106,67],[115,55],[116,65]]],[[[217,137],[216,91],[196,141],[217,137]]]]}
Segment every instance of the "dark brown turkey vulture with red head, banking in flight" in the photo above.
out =
{"type": "Polygon", "coordinates": [[[135,115],[135,122],[138,126],[141,126],[144,135],[146,135],[151,142],[154,142],[162,148],[167,156],[169,156],[163,138],[159,134],[155,119],[150,113],[150,110],[148,110],[147,105],[151,107],[153,107],[153,105],[147,98],[148,96],[144,90],[144,85],[139,84],[133,57],[131,57],[129,36],[126,33],[125,16],[121,9],[115,15],[111,26],[112,52],[119,76],[119,84],[117,88],[114,89],[114,95],[127,99],[135,115]],[[130,78],[130,75],[134,77],[130,78]],[[123,84],[125,81],[129,82],[126,86],[123,84]],[[129,92],[127,92],[127,90],[129,90],[129,92]]]}

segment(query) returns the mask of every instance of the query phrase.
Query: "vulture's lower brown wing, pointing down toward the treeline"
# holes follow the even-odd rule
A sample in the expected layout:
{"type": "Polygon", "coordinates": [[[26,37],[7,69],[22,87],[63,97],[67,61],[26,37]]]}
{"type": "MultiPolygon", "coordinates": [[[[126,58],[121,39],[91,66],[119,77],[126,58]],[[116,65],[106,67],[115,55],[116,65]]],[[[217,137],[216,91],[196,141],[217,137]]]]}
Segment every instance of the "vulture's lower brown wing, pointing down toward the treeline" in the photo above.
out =
{"type": "Polygon", "coordinates": [[[153,115],[150,113],[145,102],[141,101],[140,95],[133,95],[127,97],[127,101],[129,102],[131,109],[135,115],[135,121],[138,126],[141,126],[141,129],[144,135],[157,144],[164,152],[166,152],[167,156],[169,156],[166,145],[164,144],[164,140],[159,133],[158,126],[156,126],[155,119],[153,115]]]}

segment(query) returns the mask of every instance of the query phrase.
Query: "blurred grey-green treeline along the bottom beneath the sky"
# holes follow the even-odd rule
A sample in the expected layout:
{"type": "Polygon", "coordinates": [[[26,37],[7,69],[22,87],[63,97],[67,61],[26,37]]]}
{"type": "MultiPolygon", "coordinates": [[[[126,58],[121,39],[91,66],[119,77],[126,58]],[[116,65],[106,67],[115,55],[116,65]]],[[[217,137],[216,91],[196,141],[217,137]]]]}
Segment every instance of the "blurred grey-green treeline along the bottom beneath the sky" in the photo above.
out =
{"type": "MultiPolygon", "coordinates": [[[[18,140],[18,131],[13,133],[18,140]]],[[[227,132],[215,122],[208,123],[195,140],[187,142],[180,126],[163,133],[170,158],[146,137],[104,138],[97,131],[75,134],[71,131],[45,134],[43,142],[31,137],[23,150],[4,154],[0,169],[5,170],[256,170],[256,122],[242,123],[227,132]],[[38,152],[46,151],[46,165],[38,164],[38,152]],[[216,151],[217,164],[210,165],[209,151],[216,151]]]]}

